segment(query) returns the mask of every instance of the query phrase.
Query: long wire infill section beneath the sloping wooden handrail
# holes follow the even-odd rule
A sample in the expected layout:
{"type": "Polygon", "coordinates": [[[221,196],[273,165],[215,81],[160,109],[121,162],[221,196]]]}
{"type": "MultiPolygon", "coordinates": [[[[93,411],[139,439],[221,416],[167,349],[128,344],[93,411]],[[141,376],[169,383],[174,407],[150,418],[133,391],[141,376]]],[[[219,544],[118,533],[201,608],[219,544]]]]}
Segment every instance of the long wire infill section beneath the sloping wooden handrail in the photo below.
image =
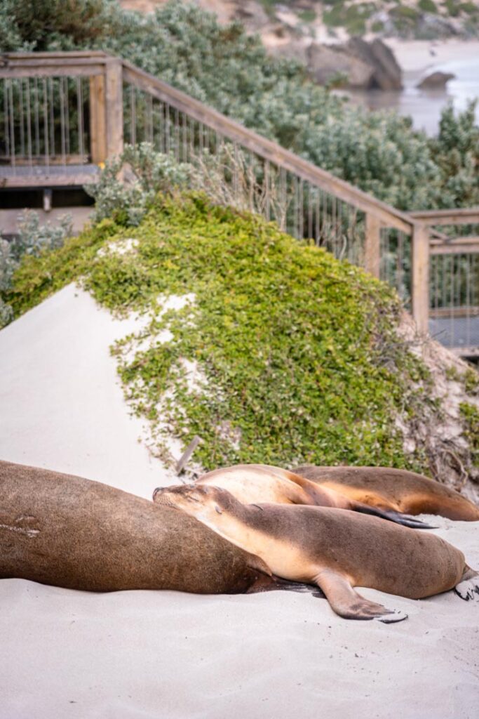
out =
{"type": "Polygon", "coordinates": [[[339,259],[361,265],[365,213],[300,175],[223,137],[207,122],[124,86],[124,138],[193,165],[213,198],[276,221],[297,239],[312,239],[339,259]]]}

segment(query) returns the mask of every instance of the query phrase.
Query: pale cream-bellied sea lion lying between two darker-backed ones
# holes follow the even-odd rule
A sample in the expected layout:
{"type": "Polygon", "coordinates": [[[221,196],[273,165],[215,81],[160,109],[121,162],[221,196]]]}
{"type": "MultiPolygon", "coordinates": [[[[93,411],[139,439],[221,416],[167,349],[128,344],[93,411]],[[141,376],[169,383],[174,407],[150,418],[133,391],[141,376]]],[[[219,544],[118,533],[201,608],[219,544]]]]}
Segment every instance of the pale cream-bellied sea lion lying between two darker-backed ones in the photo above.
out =
{"type": "Polygon", "coordinates": [[[372,514],[407,527],[430,529],[424,522],[395,510],[383,509],[357,502],[329,487],[269,464],[236,464],[233,467],[213,470],[196,480],[197,484],[213,485],[228,490],[243,504],[279,503],[311,504],[318,507],[350,509],[372,514]]]}

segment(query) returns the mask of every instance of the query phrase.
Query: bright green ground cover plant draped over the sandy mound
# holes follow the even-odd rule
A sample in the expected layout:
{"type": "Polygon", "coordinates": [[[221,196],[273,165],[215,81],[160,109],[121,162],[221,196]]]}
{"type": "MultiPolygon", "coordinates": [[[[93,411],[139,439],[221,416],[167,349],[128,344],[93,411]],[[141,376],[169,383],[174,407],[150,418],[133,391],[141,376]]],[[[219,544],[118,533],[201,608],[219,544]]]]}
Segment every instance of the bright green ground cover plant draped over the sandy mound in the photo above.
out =
{"type": "Polygon", "coordinates": [[[235,462],[386,464],[404,453],[397,416],[430,404],[427,371],[399,338],[391,288],[258,216],[204,195],[160,194],[136,226],[104,219],[60,249],[25,257],[6,295],[18,315],[66,283],[115,313],[147,313],[113,347],[126,396],[205,469],[235,462]],[[123,247],[124,252],[116,252],[123,247]],[[166,309],[167,298],[189,298],[166,309]],[[167,331],[168,338],[162,339],[167,331]],[[191,385],[187,367],[200,380],[191,385]]]}

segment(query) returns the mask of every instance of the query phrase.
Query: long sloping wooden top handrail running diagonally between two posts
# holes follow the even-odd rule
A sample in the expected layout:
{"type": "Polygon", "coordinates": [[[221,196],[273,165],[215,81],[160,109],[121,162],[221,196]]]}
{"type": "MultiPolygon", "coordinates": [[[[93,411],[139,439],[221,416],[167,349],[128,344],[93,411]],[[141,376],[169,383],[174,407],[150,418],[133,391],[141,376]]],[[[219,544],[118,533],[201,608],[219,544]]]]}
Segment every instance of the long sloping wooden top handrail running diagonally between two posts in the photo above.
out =
{"type": "Polygon", "coordinates": [[[200,101],[172,88],[172,86],[160,81],[154,75],[135,68],[131,63],[124,61],[123,66],[125,82],[132,83],[153,97],[167,102],[180,112],[185,112],[196,119],[197,122],[203,122],[203,124],[215,129],[224,137],[233,142],[238,142],[243,147],[251,150],[251,152],[264,157],[265,160],[274,162],[275,165],[289,170],[289,172],[298,175],[303,180],[324,189],[360,210],[374,214],[384,226],[395,227],[407,234],[411,233],[413,223],[408,214],[376,200],[366,192],[358,190],[358,188],[345,182],[345,180],[340,180],[326,170],[321,170],[321,168],[313,165],[312,162],[294,155],[289,150],[285,150],[276,142],[272,142],[266,137],[261,137],[256,132],[243,127],[243,125],[207,107],[200,101]]]}

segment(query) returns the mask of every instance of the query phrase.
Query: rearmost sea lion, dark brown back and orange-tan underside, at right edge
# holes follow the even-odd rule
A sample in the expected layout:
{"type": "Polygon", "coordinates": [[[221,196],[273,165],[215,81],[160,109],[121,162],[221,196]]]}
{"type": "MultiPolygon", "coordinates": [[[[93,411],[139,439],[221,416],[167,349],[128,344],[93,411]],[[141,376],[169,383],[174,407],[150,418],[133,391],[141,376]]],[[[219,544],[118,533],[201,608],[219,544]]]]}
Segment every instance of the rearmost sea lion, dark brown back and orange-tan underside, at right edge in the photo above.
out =
{"type": "Polygon", "coordinates": [[[390,467],[315,466],[297,467],[293,472],[323,489],[388,511],[438,514],[462,521],[479,520],[479,508],[470,500],[415,472],[390,467]]]}

